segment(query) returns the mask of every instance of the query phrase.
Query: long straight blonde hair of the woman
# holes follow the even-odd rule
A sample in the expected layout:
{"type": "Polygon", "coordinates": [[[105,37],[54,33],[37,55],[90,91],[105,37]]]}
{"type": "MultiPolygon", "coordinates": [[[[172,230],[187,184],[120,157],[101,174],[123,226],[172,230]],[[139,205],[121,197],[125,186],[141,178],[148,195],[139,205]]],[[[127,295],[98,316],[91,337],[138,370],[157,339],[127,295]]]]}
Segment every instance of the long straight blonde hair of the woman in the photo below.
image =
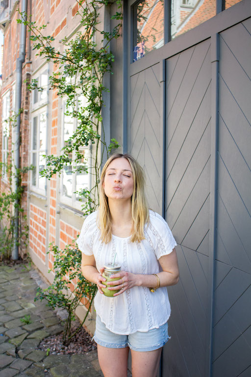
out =
{"type": "Polygon", "coordinates": [[[144,226],[149,222],[149,208],[145,196],[145,173],[140,164],[128,153],[116,153],[110,156],[105,162],[100,177],[100,207],[98,215],[98,226],[101,232],[100,239],[104,243],[109,243],[112,239],[112,221],[108,205],[108,198],[104,193],[103,183],[107,167],[116,159],[126,159],[132,171],[134,182],[131,197],[132,229],[131,242],[140,242],[145,239],[144,226]]]}

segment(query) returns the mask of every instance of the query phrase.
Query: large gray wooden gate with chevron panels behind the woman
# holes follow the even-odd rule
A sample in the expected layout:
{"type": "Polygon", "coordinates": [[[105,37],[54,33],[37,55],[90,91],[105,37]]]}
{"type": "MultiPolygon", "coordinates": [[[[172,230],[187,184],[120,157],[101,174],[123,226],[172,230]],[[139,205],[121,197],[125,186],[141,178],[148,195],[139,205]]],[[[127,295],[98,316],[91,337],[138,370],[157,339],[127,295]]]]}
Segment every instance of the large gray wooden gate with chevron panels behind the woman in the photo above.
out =
{"type": "Polygon", "coordinates": [[[151,208],[165,215],[178,243],[180,281],[168,289],[172,339],[162,376],[251,376],[251,3],[245,4],[245,11],[223,12],[129,70],[130,152],[146,170],[151,208]]]}

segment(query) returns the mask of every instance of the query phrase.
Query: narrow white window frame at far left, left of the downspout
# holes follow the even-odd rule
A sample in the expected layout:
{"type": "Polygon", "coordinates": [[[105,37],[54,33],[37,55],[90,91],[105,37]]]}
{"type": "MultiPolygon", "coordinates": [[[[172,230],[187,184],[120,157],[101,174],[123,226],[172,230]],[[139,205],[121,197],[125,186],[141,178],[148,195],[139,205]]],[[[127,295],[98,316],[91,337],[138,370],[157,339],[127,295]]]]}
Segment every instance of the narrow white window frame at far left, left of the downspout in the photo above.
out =
{"type": "MultiPolygon", "coordinates": [[[[1,151],[1,161],[8,162],[8,141],[10,133],[10,91],[7,91],[2,96],[2,151],[1,151]]],[[[3,166],[2,180],[7,183],[8,176],[6,172],[6,166],[3,166]]]]}

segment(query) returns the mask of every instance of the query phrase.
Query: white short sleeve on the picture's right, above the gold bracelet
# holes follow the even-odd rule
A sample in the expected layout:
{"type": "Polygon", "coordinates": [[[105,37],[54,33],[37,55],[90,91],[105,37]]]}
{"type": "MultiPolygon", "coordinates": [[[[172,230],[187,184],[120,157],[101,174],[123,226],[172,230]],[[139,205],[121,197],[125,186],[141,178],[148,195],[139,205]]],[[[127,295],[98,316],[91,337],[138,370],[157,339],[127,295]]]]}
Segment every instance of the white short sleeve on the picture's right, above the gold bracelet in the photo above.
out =
{"type": "Polygon", "coordinates": [[[154,251],[156,258],[170,254],[177,245],[174,236],[164,218],[154,212],[150,213],[150,231],[154,238],[154,251]]]}

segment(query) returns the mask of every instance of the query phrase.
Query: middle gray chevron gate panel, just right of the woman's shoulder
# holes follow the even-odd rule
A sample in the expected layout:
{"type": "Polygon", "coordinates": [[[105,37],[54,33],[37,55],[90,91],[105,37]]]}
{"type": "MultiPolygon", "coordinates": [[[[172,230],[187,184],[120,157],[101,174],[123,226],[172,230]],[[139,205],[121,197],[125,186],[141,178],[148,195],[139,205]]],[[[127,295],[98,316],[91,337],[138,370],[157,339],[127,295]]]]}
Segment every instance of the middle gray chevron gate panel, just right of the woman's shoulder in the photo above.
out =
{"type": "Polygon", "coordinates": [[[168,59],[166,73],[166,219],[178,243],[180,281],[168,289],[170,334],[173,331],[177,340],[164,348],[165,371],[170,376],[204,377],[209,321],[210,41],[168,59]],[[180,360],[181,370],[174,373],[169,363],[179,365],[180,360]]]}

